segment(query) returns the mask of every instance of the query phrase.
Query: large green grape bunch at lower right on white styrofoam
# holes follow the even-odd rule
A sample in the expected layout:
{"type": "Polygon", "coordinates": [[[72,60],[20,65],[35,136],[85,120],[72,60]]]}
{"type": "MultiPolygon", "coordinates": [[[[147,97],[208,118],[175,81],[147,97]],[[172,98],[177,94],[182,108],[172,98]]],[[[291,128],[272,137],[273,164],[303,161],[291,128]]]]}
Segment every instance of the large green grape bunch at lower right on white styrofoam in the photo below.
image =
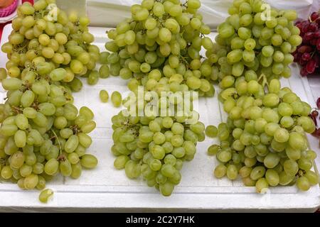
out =
{"type": "MultiPolygon", "coordinates": [[[[265,78],[266,79],[266,78],[265,78]]],[[[237,179],[264,192],[269,186],[297,184],[302,190],[318,184],[311,170],[316,153],[305,133],[315,130],[311,107],[289,88],[272,79],[265,92],[256,80],[242,77],[221,94],[227,123],[218,126],[220,145],[208,148],[220,164],[215,177],[237,179]]]]}

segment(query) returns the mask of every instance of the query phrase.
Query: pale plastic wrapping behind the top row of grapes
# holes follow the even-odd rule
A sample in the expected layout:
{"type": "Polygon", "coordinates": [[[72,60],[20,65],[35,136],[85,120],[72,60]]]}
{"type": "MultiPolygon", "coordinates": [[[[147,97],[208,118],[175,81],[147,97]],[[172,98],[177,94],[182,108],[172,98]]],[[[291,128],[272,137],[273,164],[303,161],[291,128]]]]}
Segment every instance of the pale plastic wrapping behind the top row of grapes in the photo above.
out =
{"type": "MultiPolygon", "coordinates": [[[[299,17],[306,18],[311,11],[318,11],[319,0],[267,0],[277,9],[296,9],[299,17]]],[[[114,27],[130,16],[129,7],[140,0],[87,0],[87,13],[92,26],[114,27]]],[[[201,0],[203,21],[213,30],[228,17],[233,0],[201,0]]]]}

